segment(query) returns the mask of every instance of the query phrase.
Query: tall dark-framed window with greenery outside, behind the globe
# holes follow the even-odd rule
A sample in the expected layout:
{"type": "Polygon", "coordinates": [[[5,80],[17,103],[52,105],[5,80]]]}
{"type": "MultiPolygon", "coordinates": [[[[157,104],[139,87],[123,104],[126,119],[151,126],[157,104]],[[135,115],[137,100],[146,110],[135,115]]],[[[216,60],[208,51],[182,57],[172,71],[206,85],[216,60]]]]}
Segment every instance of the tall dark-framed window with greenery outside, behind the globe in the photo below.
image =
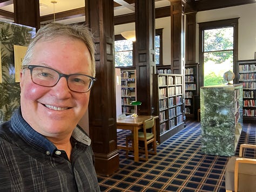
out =
{"type": "Polygon", "coordinates": [[[199,23],[200,86],[226,84],[223,75],[235,71],[238,19],[199,23]]]}

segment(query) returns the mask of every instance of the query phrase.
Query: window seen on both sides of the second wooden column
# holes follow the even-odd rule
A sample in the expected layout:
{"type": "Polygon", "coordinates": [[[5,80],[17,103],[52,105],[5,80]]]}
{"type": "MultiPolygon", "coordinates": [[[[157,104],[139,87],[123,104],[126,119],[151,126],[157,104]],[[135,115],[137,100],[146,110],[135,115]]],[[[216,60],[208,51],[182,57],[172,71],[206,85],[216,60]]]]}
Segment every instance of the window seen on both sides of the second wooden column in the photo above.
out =
{"type": "MultiPolygon", "coordinates": [[[[163,29],[156,30],[156,65],[163,64],[163,46],[162,46],[162,33],[163,29]]],[[[131,40],[126,40],[121,35],[115,36],[114,41],[114,61],[116,67],[132,67],[133,59],[133,45],[131,40]]]]}

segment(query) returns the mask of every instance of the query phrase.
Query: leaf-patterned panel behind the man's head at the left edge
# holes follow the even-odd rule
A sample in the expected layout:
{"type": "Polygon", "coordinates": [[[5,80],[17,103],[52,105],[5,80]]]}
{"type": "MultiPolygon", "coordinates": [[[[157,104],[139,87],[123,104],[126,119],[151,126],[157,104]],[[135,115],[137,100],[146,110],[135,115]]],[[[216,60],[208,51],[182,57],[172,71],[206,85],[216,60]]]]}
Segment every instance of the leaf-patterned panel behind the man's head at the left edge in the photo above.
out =
{"type": "Polygon", "coordinates": [[[14,45],[28,46],[35,35],[35,28],[0,21],[0,122],[9,120],[20,105],[19,83],[15,82],[14,45]]]}

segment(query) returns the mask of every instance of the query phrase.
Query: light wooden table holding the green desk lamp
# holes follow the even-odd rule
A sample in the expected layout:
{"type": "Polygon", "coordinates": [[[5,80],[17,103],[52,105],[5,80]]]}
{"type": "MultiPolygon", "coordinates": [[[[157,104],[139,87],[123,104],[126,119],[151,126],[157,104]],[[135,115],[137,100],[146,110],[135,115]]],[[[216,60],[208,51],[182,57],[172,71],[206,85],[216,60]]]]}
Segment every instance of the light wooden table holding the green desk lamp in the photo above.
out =
{"type": "MultiPolygon", "coordinates": [[[[136,117],[132,117],[131,115],[126,116],[125,119],[117,119],[117,129],[125,129],[131,130],[133,132],[133,141],[134,141],[134,161],[139,162],[139,140],[138,140],[138,130],[143,125],[145,120],[153,118],[155,120],[158,116],[154,115],[138,115],[136,117]]],[[[130,149],[126,146],[117,146],[118,149],[130,149]]]]}

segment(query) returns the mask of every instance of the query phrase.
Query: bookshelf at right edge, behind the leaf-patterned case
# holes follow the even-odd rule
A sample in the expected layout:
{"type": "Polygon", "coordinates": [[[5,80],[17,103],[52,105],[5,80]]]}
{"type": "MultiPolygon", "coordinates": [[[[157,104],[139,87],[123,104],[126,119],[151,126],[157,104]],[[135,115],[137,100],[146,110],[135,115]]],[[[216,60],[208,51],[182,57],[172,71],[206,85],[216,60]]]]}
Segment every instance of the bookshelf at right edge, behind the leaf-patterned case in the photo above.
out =
{"type": "Polygon", "coordinates": [[[239,60],[238,82],[242,84],[243,119],[246,122],[256,120],[256,60],[239,60]]]}

